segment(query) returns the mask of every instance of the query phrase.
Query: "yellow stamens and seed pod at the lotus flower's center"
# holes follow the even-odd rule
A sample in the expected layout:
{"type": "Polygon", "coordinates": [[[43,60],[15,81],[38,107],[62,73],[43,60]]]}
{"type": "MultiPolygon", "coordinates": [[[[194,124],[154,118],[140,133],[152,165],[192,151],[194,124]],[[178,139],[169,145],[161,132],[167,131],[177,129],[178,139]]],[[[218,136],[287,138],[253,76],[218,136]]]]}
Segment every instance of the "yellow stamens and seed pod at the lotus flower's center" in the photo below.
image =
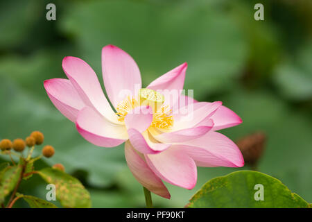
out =
{"type": "Polygon", "coordinates": [[[153,89],[140,89],[138,100],[128,96],[119,102],[116,107],[116,114],[120,122],[125,121],[125,116],[140,105],[150,105],[153,109],[153,121],[150,126],[162,129],[169,129],[173,126],[173,115],[168,105],[163,105],[164,96],[153,89]]]}

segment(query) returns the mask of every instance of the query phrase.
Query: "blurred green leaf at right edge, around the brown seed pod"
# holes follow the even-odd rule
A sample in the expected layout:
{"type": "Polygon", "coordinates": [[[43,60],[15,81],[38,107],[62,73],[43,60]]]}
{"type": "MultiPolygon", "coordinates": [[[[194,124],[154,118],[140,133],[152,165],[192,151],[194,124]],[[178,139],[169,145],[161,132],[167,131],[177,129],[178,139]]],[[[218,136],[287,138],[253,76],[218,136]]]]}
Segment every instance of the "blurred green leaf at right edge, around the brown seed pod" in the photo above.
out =
{"type": "Polygon", "coordinates": [[[220,133],[231,139],[259,130],[265,133],[266,150],[259,161],[259,171],[283,181],[311,203],[311,115],[291,109],[279,96],[266,90],[236,89],[218,100],[243,119],[241,125],[220,133]]]}

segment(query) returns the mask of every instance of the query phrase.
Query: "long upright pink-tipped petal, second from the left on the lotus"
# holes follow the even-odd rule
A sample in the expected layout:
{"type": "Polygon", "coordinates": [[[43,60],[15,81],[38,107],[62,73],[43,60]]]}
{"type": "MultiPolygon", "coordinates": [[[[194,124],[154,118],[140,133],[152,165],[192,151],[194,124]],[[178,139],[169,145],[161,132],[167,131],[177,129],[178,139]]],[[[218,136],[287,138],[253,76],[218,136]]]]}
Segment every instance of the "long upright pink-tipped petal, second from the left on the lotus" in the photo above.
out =
{"type": "Polygon", "coordinates": [[[80,58],[67,56],[63,59],[62,67],[83,102],[98,110],[110,121],[118,123],[116,114],[98,82],[98,77],[87,62],[80,58]]]}

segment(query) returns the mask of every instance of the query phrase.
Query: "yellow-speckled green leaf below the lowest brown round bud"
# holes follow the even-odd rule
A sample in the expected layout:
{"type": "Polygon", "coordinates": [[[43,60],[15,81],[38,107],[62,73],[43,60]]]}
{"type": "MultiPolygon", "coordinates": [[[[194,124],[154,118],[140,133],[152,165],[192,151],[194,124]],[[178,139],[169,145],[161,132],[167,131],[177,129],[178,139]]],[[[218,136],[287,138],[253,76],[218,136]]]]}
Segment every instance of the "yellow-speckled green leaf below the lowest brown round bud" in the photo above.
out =
{"type": "Polygon", "coordinates": [[[49,184],[55,185],[56,198],[64,207],[91,207],[90,194],[79,180],[58,169],[44,168],[38,174],[49,184]]]}

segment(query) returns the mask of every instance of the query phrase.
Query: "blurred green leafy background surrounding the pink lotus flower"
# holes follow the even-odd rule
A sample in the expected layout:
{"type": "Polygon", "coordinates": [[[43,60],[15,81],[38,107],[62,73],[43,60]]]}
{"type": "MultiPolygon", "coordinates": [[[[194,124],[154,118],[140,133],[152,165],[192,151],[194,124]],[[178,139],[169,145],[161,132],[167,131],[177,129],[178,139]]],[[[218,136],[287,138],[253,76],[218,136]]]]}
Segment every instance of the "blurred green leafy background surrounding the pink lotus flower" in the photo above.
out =
{"type": "MultiPolygon", "coordinates": [[[[259,171],[312,202],[312,1],[60,0],[56,21],[46,20],[48,3],[0,1],[0,139],[41,130],[56,153],[37,168],[64,164],[93,207],[144,207],[123,146],[86,142],[43,87],[47,78],[66,78],[64,56],[88,62],[103,83],[101,49],[114,44],[136,60],[144,86],[188,62],[185,87],[195,99],[223,101],[243,119],[222,133],[234,141],[266,133],[259,171]],[[254,20],[255,3],[263,3],[264,21],[254,20]]],[[[183,207],[207,180],[235,170],[199,168],[193,190],[166,184],[172,198],[154,195],[155,207],[183,207]]],[[[46,194],[37,176],[22,182],[23,191],[46,194]]]]}

